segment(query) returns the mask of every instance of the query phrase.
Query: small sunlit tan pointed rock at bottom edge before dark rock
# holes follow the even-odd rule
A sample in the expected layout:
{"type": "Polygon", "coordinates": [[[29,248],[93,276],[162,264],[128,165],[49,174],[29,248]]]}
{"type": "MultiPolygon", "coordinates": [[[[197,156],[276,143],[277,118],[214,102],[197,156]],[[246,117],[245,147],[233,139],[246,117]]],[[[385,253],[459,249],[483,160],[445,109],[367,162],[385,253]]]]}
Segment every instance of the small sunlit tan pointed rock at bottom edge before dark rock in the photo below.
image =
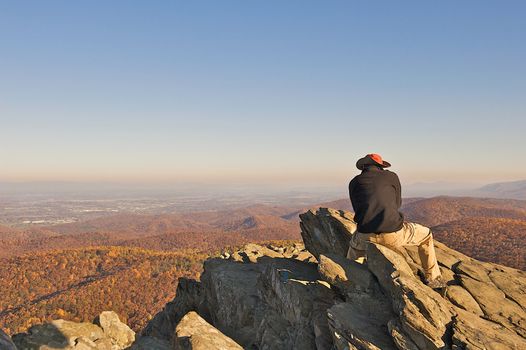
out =
{"type": "Polygon", "coordinates": [[[174,350],[242,350],[197,313],[189,312],[175,329],[174,350]]]}

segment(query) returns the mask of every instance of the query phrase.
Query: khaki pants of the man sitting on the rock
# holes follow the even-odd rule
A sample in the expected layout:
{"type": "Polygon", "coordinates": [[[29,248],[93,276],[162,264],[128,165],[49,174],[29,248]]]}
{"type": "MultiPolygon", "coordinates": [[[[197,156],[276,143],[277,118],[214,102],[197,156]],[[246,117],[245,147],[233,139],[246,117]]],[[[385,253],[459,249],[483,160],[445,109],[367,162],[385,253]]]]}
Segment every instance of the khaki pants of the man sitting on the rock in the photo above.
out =
{"type": "Polygon", "coordinates": [[[349,244],[347,258],[357,260],[365,257],[368,242],[381,244],[393,250],[404,246],[418,246],[418,255],[422,261],[425,278],[432,280],[440,276],[440,269],[433,245],[433,234],[428,227],[412,222],[404,222],[404,226],[396,232],[361,233],[355,232],[349,244]]]}

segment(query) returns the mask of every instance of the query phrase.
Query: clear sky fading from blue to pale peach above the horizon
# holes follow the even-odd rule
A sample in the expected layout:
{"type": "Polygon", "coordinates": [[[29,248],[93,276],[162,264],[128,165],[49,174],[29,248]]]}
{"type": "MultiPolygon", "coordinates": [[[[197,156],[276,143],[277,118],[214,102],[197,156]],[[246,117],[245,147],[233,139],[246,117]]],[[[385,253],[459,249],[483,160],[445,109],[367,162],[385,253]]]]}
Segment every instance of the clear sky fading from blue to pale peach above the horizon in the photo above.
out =
{"type": "Polygon", "coordinates": [[[524,1],[1,1],[0,180],[526,178],[524,1]]]}

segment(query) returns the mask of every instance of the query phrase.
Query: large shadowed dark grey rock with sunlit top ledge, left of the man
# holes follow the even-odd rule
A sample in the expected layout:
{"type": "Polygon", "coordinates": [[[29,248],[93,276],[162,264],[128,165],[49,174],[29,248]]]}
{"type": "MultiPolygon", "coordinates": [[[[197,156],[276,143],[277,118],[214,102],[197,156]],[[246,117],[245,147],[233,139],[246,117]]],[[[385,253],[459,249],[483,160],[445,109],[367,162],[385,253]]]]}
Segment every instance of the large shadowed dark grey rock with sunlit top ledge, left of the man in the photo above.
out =
{"type": "Polygon", "coordinates": [[[201,282],[186,281],[194,287],[178,287],[177,297],[142,335],[173,342],[174,320],[182,318],[181,310],[196,310],[244,348],[330,349],[326,312],[334,292],[321,281],[316,264],[292,258],[312,257],[301,248],[251,244],[232,254],[241,261],[207,260],[201,282]],[[166,336],[170,326],[172,335],[166,336]]]}

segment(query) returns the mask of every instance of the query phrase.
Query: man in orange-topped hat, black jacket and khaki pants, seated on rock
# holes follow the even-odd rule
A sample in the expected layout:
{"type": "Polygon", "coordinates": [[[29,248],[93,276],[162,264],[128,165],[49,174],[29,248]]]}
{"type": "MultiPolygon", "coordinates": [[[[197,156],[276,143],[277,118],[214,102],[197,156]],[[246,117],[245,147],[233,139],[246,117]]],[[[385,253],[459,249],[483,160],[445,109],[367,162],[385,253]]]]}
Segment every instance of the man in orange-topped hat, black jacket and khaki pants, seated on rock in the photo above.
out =
{"type": "Polygon", "coordinates": [[[347,257],[353,260],[365,257],[367,242],[394,250],[418,246],[426,284],[434,289],[444,288],[431,230],[404,221],[399,211],[402,205],[400,180],[394,172],[385,170],[390,166],[379,154],[368,154],[356,162],[362,173],[349,183],[349,195],[358,229],[351,238],[347,257]]]}

